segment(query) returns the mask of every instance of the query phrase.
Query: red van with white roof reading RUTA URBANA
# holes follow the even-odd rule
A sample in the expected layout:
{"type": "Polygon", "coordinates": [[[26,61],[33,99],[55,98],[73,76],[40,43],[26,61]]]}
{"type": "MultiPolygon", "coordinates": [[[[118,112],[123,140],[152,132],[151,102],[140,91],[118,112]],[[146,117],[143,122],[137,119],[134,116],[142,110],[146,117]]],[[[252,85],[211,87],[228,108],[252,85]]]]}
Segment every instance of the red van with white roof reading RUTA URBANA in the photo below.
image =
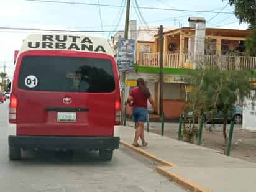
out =
{"type": "Polygon", "coordinates": [[[21,149],[99,150],[119,147],[119,75],[111,47],[99,37],[29,35],[16,59],[9,105],[9,158],[21,149]]]}

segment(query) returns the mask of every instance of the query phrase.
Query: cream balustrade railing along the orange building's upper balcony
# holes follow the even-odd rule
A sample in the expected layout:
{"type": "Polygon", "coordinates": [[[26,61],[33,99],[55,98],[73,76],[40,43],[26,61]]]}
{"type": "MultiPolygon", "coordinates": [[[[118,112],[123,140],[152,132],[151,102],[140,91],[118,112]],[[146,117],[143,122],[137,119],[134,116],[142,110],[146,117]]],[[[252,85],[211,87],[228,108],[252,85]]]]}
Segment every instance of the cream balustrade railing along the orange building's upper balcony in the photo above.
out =
{"type": "MultiPolygon", "coordinates": [[[[187,54],[168,53],[163,54],[163,68],[185,68],[188,61],[187,54]]],[[[256,70],[256,57],[233,55],[196,55],[192,62],[199,66],[213,68],[219,66],[221,70],[256,70]]],[[[139,66],[159,67],[158,52],[141,52],[139,66]]]]}

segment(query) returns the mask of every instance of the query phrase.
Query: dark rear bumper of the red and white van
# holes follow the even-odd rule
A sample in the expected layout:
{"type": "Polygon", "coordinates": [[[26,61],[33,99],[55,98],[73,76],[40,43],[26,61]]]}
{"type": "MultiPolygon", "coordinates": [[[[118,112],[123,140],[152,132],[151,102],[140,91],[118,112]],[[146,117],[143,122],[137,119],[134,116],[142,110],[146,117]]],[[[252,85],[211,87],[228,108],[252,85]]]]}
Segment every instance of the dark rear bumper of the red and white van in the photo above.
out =
{"type": "Polygon", "coordinates": [[[119,137],[58,137],[9,135],[9,147],[42,150],[114,150],[119,148],[119,137]]]}

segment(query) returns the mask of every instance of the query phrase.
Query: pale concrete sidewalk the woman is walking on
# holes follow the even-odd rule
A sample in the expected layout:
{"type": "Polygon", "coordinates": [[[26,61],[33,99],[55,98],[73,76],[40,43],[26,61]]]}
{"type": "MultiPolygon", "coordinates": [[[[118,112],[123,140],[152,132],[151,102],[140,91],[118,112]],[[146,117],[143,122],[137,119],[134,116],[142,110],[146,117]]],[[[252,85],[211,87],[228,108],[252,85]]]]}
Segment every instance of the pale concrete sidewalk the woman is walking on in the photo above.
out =
{"type": "MultiPolygon", "coordinates": [[[[134,129],[122,126],[121,140],[132,144],[134,129]]],[[[139,149],[174,167],[166,171],[217,192],[256,191],[256,164],[219,154],[216,150],[145,132],[149,145],[139,149]]],[[[203,191],[203,190],[202,190],[203,191]]]]}

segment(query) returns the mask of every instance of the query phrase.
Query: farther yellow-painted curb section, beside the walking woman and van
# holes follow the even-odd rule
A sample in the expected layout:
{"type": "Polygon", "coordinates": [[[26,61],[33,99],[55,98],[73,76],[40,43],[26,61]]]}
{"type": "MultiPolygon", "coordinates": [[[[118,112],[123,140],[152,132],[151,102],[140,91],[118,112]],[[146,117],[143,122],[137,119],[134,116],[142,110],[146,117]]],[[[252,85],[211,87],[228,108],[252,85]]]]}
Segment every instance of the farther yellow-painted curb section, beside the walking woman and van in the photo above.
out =
{"type": "Polygon", "coordinates": [[[124,145],[125,147],[128,147],[130,149],[135,150],[136,152],[144,155],[147,158],[150,158],[158,163],[161,163],[162,165],[165,166],[170,166],[170,167],[175,167],[173,163],[167,162],[166,160],[163,160],[161,158],[156,157],[155,155],[150,154],[149,152],[146,152],[143,149],[139,149],[139,147],[134,147],[133,145],[128,144],[127,142],[124,142],[123,140],[120,141],[120,144],[124,145]]]}

